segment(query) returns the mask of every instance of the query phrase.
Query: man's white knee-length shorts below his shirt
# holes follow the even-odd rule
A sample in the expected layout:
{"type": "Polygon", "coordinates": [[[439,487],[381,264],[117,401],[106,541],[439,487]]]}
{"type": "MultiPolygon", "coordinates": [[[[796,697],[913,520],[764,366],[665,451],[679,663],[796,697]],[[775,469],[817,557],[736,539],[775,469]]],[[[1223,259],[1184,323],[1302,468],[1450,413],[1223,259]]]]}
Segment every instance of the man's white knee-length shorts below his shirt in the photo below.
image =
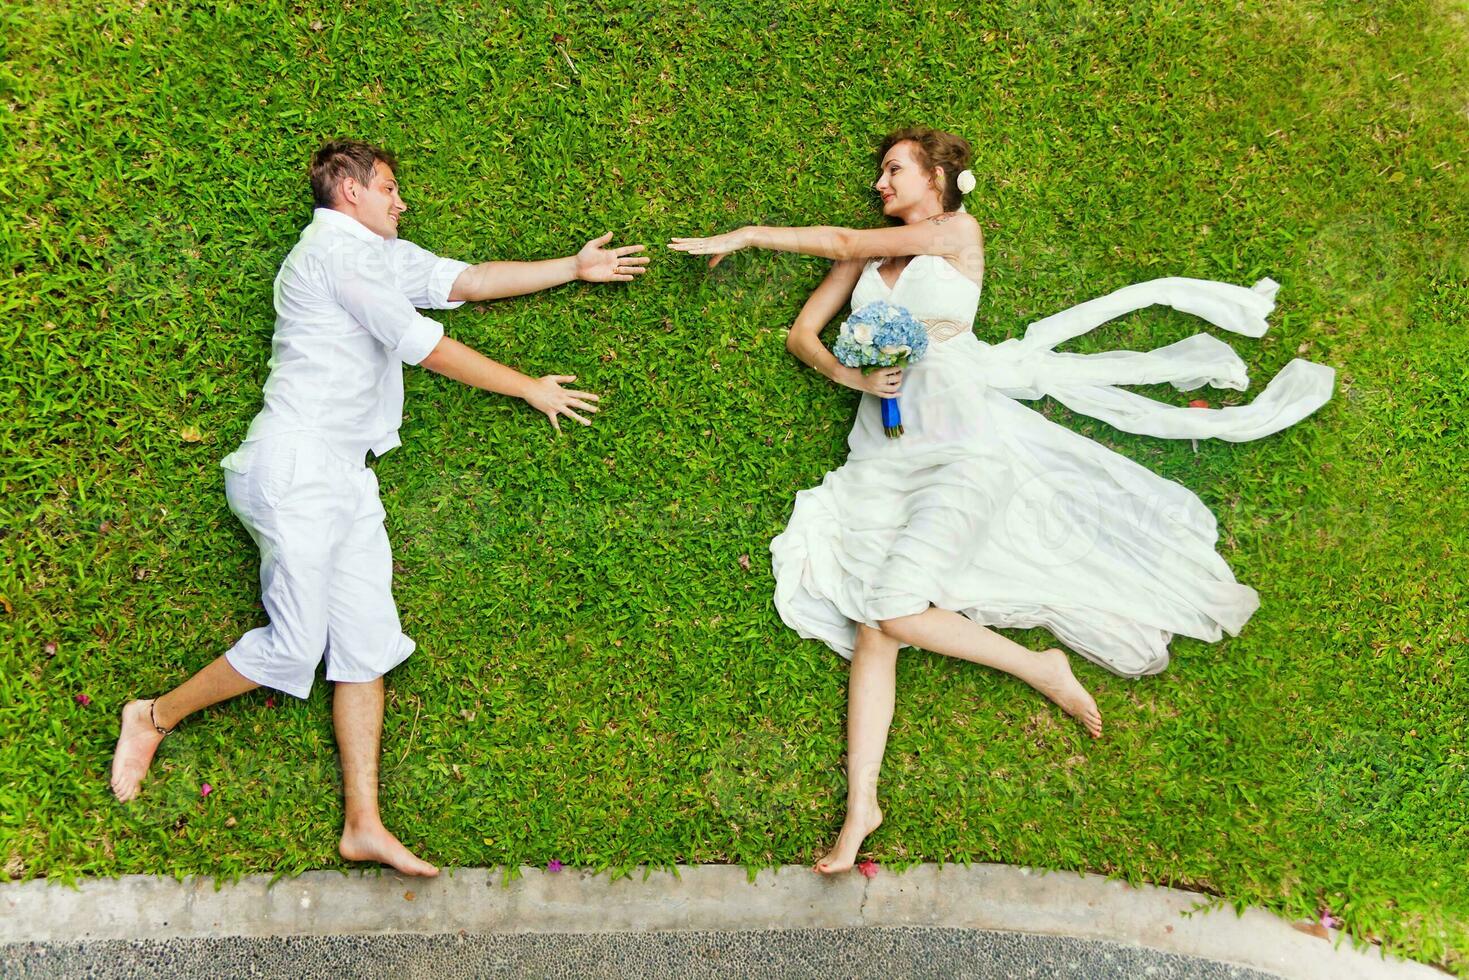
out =
{"type": "Polygon", "coordinates": [[[256,683],[297,698],[316,666],[328,680],[375,680],[413,652],[392,601],[392,551],[378,475],[308,433],[250,444],[225,470],[229,508],[260,548],[270,624],[225,657],[256,683]]]}

